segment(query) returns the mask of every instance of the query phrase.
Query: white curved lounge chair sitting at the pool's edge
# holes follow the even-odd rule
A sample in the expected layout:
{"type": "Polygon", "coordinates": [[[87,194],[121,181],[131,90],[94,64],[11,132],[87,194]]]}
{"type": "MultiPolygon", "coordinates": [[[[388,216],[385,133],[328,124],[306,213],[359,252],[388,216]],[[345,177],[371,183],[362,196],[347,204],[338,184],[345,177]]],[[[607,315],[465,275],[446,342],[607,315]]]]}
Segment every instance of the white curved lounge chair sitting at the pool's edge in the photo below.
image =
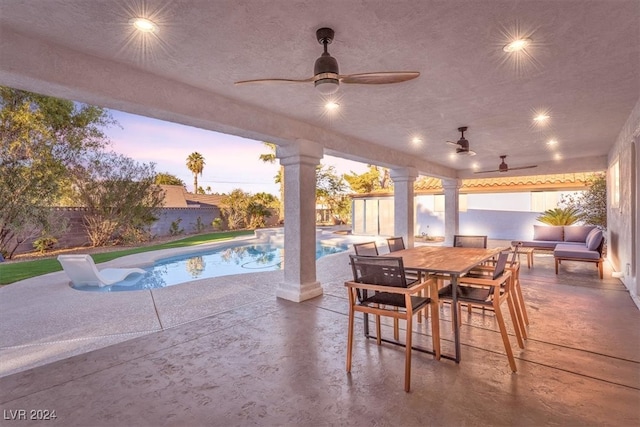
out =
{"type": "Polygon", "coordinates": [[[123,281],[128,275],[144,274],[141,268],[105,268],[98,270],[89,255],[59,255],[62,269],[74,285],[109,286],[123,281]]]}

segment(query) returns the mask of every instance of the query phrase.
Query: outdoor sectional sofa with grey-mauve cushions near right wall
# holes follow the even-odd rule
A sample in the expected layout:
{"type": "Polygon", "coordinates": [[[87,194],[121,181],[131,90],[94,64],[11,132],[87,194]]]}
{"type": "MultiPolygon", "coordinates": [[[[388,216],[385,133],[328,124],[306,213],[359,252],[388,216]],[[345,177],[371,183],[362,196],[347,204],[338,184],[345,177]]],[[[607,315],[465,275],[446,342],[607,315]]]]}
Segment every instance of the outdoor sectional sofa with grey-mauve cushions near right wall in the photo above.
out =
{"type": "Polygon", "coordinates": [[[522,243],[522,247],[553,250],[556,274],[562,261],[593,262],[598,268],[600,279],[603,278],[604,235],[596,226],[534,225],[533,240],[512,242],[514,245],[518,243],[522,243]]]}

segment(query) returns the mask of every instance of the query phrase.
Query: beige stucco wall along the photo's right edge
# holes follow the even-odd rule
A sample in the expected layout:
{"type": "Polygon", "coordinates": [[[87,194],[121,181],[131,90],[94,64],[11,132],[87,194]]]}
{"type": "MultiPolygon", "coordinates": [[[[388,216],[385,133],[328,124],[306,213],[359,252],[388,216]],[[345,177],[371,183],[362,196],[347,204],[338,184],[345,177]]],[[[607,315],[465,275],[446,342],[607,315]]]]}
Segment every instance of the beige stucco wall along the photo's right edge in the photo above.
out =
{"type": "MultiPolygon", "coordinates": [[[[635,297],[638,289],[638,164],[640,143],[640,99],[629,119],[620,131],[614,147],[609,152],[608,166],[620,162],[620,204],[611,206],[611,182],[608,179],[607,222],[609,260],[616,271],[623,274],[621,280],[635,297]]],[[[610,175],[609,175],[610,177],[610,175]]],[[[608,178],[609,178],[608,177],[608,178]]]]}

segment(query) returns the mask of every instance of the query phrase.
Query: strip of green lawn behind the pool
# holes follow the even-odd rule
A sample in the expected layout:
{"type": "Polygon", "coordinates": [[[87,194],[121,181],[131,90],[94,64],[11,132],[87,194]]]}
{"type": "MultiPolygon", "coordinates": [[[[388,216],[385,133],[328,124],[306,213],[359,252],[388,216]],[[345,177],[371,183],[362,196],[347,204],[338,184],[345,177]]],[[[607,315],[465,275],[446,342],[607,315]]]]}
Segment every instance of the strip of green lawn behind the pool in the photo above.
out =
{"type": "MultiPolygon", "coordinates": [[[[123,249],[121,251],[95,253],[92,254],[91,257],[96,264],[99,264],[101,262],[111,261],[115,258],[139,254],[142,252],[195,246],[202,243],[215,242],[218,240],[229,240],[237,236],[247,236],[250,234],[253,234],[253,230],[199,234],[196,236],[187,237],[185,239],[176,240],[173,242],[163,243],[160,245],[123,249]]],[[[3,262],[0,263],[0,285],[8,285],[9,283],[17,282],[19,280],[29,279],[30,277],[36,277],[42,274],[53,273],[60,270],[62,270],[62,266],[60,266],[60,263],[55,258],[39,259],[25,262],[3,262]]]]}

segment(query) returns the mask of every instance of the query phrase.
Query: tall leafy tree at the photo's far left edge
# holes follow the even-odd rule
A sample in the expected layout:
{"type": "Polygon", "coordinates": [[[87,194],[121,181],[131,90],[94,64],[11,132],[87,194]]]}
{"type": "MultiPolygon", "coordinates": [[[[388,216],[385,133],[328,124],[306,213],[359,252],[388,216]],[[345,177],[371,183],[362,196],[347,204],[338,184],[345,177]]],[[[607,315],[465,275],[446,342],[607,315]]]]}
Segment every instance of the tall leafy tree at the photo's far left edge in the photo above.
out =
{"type": "Polygon", "coordinates": [[[116,122],[99,107],[0,86],[0,251],[11,257],[42,231],[63,231],[50,209],[70,161],[102,149],[116,122]]]}

